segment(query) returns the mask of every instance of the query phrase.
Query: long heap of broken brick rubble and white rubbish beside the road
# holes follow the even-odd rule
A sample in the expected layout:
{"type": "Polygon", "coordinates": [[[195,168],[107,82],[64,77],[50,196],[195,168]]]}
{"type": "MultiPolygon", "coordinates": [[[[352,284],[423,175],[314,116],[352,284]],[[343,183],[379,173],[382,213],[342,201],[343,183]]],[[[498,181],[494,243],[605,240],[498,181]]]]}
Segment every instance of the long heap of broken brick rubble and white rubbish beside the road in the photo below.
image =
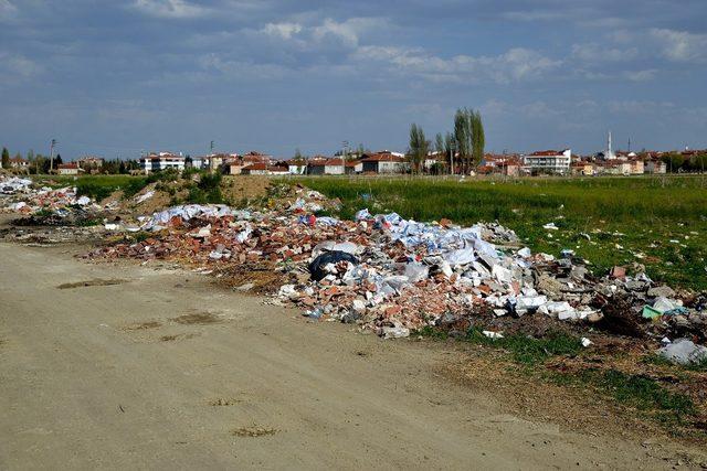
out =
{"type": "MultiPolygon", "coordinates": [[[[6,185],[17,186],[3,204],[15,212],[93,207],[110,214],[73,189],[6,185]]],[[[288,186],[261,211],[191,204],[136,215],[129,224],[105,218],[102,231],[125,236],[86,257],[277,274],[271,302],[294,304],[310,319],[356,323],[388,339],[425,327],[452,333],[475,327],[499,338],[532,319],[662,343],[661,354],[678,363],[707,358],[700,346],[707,342],[707,296],[655,283],[641,267],[631,275],[614,267],[595,277],[573,251],[559,258],[532,254],[496,223],[418,223],[368,210],[352,221],[317,216],[338,208],[338,201],[288,186]],[[685,340],[671,342],[679,339],[685,340]]]]}

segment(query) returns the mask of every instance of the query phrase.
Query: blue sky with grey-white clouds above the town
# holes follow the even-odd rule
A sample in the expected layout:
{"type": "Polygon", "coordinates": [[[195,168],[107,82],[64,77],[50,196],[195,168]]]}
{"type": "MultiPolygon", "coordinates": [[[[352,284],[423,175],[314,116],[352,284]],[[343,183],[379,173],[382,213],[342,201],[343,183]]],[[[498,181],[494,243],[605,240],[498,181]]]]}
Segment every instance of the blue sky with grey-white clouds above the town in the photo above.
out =
{"type": "Polygon", "coordinates": [[[13,153],[705,148],[707,1],[0,0],[0,77],[13,153]]]}

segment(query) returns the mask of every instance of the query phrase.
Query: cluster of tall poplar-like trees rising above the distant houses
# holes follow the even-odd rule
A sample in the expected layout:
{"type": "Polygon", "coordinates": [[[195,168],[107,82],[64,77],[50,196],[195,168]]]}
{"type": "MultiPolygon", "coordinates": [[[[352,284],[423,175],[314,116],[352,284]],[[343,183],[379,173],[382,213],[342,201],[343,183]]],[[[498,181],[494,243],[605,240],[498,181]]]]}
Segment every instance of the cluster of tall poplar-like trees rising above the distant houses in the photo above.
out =
{"type": "MultiPolygon", "coordinates": [[[[453,131],[437,132],[434,139],[434,150],[445,157],[444,165],[435,163],[430,169],[433,173],[442,173],[444,170],[452,173],[467,174],[476,168],[484,158],[486,136],[482,114],[478,110],[460,108],[454,114],[453,131]],[[440,167],[446,167],[442,169],[440,167]]],[[[421,126],[410,126],[410,143],[408,156],[412,171],[421,173],[424,170],[424,160],[430,154],[432,142],[425,137],[421,126]]]]}

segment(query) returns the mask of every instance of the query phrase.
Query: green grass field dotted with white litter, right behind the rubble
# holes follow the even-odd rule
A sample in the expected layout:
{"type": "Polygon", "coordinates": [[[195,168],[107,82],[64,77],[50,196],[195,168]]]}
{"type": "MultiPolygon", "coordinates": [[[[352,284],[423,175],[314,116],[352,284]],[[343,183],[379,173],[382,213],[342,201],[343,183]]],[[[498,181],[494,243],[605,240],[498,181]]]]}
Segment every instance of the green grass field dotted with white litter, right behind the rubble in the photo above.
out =
{"type": "Polygon", "coordinates": [[[498,221],[535,251],[576,250],[595,274],[643,264],[655,280],[707,289],[707,178],[457,180],[304,178],[296,180],[357,210],[415,221],[498,221]],[[558,231],[542,226],[555,223],[558,231]]]}

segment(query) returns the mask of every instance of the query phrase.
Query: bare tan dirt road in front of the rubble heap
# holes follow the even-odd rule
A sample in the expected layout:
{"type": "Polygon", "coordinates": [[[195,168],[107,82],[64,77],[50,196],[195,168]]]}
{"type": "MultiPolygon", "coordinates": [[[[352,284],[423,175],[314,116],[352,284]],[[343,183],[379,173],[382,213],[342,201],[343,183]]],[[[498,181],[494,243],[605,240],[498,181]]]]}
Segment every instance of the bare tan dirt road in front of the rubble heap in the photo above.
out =
{"type": "Polygon", "coordinates": [[[508,414],[435,375],[445,349],[75,251],[0,244],[3,470],[673,464],[508,414]]]}

